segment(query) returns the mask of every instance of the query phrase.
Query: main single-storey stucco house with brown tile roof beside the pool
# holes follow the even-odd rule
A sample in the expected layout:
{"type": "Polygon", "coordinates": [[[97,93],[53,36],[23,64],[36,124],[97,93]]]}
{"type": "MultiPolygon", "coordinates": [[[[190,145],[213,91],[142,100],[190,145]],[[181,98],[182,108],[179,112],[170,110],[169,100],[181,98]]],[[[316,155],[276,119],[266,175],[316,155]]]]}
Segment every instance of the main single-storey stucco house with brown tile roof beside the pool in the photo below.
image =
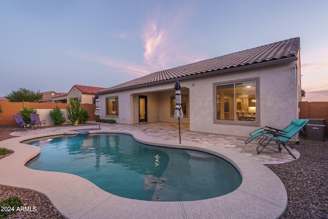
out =
{"type": "Polygon", "coordinates": [[[248,136],[258,127],[284,128],[298,118],[300,38],[154,72],[99,91],[100,118],[117,123],[178,122],[181,85],[190,131],[248,136]]]}

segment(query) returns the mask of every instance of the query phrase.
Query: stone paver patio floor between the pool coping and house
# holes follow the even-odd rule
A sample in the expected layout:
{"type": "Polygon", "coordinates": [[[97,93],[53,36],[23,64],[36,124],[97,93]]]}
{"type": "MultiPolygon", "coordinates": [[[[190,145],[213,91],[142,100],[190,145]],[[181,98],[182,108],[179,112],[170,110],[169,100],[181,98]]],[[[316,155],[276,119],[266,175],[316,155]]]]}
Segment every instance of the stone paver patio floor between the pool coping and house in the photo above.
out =
{"type": "MultiPolygon", "coordinates": [[[[49,127],[29,129],[24,132],[14,132],[12,135],[24,136],[31,134],[43,134],[49,131],[61,131],[61,130],[73,130],[76,129],[97,129],[98,123],[90,122],[95,126],[71,126],[71,127],[49,127]]],[[[133,131],[138,130],[143,132],[147,136],[158,138],[159,140],[167,141],[179,141],[179,127],[178,123],[166,123],[166,122],[154,122],[154,123],[142,123],[134,125],[125,124],[107,124],[100,123],[101,131],[106,128],[110,128],[115,131],[133,131]]],[[[278,151],[275,143],[270,143],[260,154],[256,153],[257,141],[254,140],[249,144],[245,144],[247,137],[221,135],[213,133],[195,132],[189,131],[189,124],[181,123],[181,143],[183,142],[195,142],[200,144],[216,145],[223,148],[230,148],[240,153],[253,157],[255,160],[262,164],[280,164],[295,161],[295,159],[282,147],[281,152],[278,151]]],[[[290,151],[296,158],[300,156],[299,152],[295,149],[290,151]]]]}

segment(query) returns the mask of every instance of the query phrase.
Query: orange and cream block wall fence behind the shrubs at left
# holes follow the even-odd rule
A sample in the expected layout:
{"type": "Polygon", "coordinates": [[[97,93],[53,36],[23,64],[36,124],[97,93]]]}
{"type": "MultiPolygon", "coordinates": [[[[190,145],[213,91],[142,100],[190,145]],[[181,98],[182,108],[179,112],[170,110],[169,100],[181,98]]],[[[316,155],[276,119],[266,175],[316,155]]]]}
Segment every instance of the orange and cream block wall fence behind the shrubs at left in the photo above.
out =
{"type": "MultiPolygon", "coordinates": [[[[64,112],[64,117],[67,118],[66,107],[68,105],[63,103],[8,102],[7,99],[0,99],[0,106],[3,111],[0,114],[0,126],[17,125],[13,115],[19,113],[23,107],[36,109],[40,115],[40,120],[46,120],[46,126],[52,126],[53,121],[49,115],[50,111],[58,106],[64,112]]],[[[81,108],[88,110],[89,121],[94,121],[98,118],[98,116],[94,115],[95,104],[81,104],[81,108]]],[[[69,121],[67,121],[67,124],[69,124],[69,121]]]]}

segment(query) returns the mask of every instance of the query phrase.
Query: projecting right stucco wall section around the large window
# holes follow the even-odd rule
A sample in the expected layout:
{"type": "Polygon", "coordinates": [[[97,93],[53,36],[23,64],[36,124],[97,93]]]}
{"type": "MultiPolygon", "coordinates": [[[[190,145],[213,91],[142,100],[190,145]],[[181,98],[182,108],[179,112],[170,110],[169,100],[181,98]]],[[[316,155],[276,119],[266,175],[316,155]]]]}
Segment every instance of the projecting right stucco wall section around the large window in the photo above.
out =
{"type": "Polygon", "coordinates": [[[180,82],[190,90],[190,130],[249,136],[258,127],[213,123],[213,83],[259,78],[258,110],[260,124],[284,128],[294,118],[298,118],[297,82],[295,64],[287,63],[274,67],[263,67],[230,74],[199,78],[180,82]],[[193,86],[194,84],[194,86],[193,86]],[[204,107],[205,106],[205,107],[204,107]]]}

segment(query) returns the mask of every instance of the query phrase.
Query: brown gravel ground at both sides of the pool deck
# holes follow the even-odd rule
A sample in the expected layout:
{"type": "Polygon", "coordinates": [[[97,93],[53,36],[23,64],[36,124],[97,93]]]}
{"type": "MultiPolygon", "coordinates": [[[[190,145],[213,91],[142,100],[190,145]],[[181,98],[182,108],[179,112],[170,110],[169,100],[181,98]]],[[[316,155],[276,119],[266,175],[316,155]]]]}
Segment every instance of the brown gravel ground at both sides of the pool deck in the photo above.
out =
{"type": "MultiPolygon", "coordinates": [[[[0,126],[0,141],[11,138],[11,132],[22,131],[14,126],[0,126]]],[[[299,159],[285,164],[265,165],[279,176],[288,193],[288,207],[281,218],[328,218],[328,141],[314,142],[300,137],[295,148],[299,159]]],[[[255,150],[255,149],[254,149],[255,150]]],[[[4,156],[0,155],[0,159],[4,156]]],[[[24,206],[37,211],[17,212],[6,218],[65,218],[48,198],[35,191],[0,185],[0,202],[18,196],[24,206]]]]}

